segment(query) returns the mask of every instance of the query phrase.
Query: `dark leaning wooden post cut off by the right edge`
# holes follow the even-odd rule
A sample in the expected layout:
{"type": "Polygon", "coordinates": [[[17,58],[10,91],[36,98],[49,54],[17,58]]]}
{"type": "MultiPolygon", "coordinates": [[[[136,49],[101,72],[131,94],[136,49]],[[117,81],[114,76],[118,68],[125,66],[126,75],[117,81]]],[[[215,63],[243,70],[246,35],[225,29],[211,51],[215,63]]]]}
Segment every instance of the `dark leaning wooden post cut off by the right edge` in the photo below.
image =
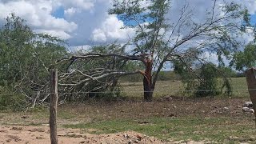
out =
{"type": "Polygon", "coordinates": [[[250,68],[246,70],[246,82],[248,86],[248,91],[250,94],[250,100],[253,102],[255,126],[256,126],[256,69],[250,68]]]}

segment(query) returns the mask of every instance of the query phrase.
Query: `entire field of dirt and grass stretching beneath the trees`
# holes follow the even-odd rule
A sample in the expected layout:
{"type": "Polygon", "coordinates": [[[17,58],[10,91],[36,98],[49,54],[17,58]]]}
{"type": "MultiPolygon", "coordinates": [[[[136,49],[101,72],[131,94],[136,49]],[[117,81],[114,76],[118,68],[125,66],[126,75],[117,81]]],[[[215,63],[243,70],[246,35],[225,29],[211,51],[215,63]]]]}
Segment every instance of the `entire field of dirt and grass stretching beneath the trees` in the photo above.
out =
{"type": "MultiPolygon", "coordinates": [[[[233,82],[234,97],[219,98],[184,97],[181,82],[158,82],[154,102],[140,101],[140,82],[122,83],[135,99],[58,106],[59,142],[255,143],[254,114],[242,112],[246,80],[233,82]]],[[[0,112],[0,143],[50,143],[48,118],[44,107],[0,112]]]]}

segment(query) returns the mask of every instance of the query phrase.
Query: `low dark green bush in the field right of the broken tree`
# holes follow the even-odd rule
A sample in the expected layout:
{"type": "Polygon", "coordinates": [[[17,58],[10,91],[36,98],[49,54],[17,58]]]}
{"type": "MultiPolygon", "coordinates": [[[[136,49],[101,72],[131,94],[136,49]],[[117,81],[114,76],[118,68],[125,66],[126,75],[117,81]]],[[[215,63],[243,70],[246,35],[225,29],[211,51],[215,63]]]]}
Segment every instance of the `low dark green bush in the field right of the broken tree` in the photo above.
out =
{"type": "Polygon", "coordinates": [[[222,94],[223,90],[224,94],[231,95],[230,77],[234,71],[230,68],[217,67],[209,62],[191,72],[187,66],[176,62],[174,72],[181,76],[182,82],[186,85],[186,92],[195,97],[214,97],[222,94]]]}

